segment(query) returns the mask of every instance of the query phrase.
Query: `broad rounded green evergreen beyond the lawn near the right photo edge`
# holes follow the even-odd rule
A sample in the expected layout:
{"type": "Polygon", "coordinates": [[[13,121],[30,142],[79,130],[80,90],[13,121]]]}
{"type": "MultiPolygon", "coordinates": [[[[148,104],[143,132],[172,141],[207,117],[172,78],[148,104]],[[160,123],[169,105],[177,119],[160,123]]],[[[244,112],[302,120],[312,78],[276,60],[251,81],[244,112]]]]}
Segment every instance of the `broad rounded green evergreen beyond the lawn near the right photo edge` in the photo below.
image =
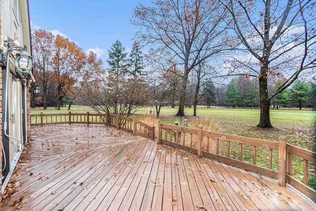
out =
{"type": "Polygon", "coordinates": [[[292,88],[290,89],[289,98],[295,105],[298,105],[301,110],[303,103],[309,99],[310,94],[311,84],[304,83],[299,80],[293,84],[292,88]]]}

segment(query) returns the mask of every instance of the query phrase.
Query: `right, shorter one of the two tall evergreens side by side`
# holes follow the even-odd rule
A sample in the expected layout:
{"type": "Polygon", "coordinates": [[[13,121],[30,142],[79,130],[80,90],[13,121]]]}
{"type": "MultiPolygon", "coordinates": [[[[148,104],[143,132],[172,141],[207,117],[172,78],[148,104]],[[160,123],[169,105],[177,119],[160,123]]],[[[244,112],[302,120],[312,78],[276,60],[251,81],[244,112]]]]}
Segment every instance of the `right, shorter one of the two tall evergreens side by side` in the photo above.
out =
{"type": "Polygon", "coordinates": [[[137,43],[133,44],[133,48],[129,53],[129,64],[129,73],[134,79],[142,77],[145,68],[144,56],[137,43]]]}

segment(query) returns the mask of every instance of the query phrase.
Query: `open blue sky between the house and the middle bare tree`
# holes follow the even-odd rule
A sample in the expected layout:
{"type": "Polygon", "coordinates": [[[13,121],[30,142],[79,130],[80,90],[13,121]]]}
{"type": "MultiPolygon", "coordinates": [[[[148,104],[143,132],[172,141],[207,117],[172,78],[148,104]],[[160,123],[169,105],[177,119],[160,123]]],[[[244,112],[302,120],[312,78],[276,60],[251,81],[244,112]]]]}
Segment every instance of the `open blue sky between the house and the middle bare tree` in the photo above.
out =
{"type": "Polygon", "coordinates": [[[116,40],[131,49],[138,28],[130,19],[139,3],[150,0],[30,0],[31,25],[67,36],[85,51],[94,49],[106,63],[116,40]]]}

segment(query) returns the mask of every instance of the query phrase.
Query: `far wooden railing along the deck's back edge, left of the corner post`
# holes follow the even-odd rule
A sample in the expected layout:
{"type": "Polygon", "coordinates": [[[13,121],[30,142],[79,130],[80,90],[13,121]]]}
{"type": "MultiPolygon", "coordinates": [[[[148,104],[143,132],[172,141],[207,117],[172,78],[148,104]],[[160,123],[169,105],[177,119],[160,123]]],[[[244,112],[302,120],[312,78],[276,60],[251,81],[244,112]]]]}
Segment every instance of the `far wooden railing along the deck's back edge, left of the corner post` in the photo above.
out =
{"type": "Polygon", "coordinates": [[[58,124],[108,125],[123,129],[134,135],[155,140],[155,127],[136,120],[135,117],[120,117],[114,114],[71,113],[68,114],[31,114],[31,126],[47,126],[58,124]]]}

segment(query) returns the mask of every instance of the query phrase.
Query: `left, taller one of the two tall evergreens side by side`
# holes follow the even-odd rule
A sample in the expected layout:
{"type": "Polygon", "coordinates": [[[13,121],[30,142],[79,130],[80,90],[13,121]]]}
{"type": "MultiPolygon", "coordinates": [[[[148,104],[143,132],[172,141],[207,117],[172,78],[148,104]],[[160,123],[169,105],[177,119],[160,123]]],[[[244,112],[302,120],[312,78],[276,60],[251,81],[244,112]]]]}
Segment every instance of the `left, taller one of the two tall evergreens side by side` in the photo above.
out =
{"type": "Polygon", "coordinates": [[[111,49],[109,50],[109,58],[107,60],[109,64],[109,74],[110,76],[118,80],[121,76],[127,73],[128,59],[127,53],[124,52],[125,47],[118,40],[113,43],[111,49]]]}

